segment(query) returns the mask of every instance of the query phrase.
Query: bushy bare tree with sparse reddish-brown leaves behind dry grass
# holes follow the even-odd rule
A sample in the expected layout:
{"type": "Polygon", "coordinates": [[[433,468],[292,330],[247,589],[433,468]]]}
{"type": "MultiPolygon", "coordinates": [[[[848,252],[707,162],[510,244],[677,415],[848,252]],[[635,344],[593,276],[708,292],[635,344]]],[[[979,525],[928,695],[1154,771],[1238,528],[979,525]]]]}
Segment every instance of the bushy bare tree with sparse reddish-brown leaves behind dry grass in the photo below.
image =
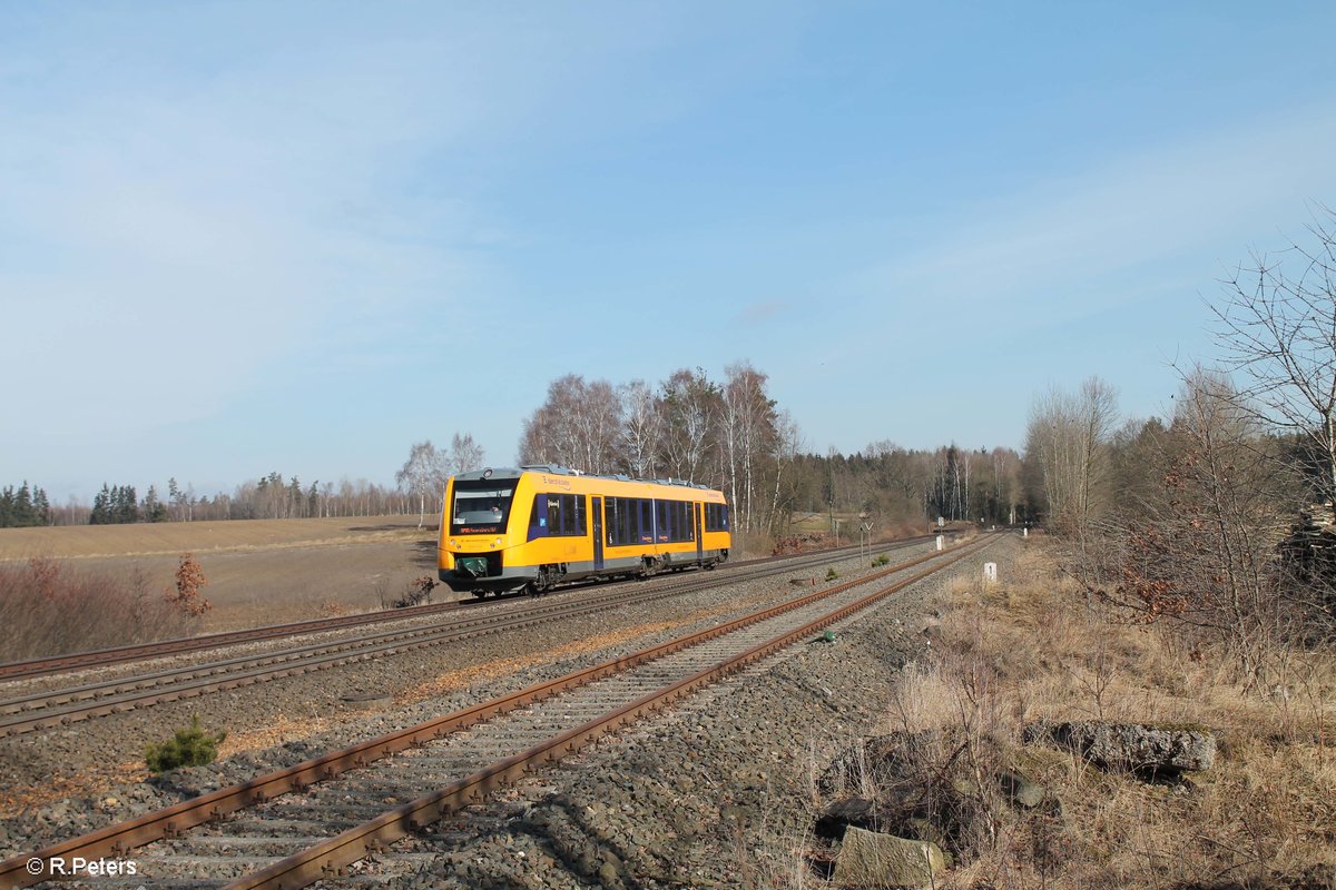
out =
{"type": "Polygon", "coordinates": [[[1249,685],[1265,681],[1271,643],[1300,612],[1272,571],[1287,482],[1260,424],[1228,378],[1198,371],[1172,426],[1145,424],[1138,439],[1149,478],[1102,523],[1078,574],[1146,623],[1170,620],[1189,639],[1218,640],[1249,685]]]}

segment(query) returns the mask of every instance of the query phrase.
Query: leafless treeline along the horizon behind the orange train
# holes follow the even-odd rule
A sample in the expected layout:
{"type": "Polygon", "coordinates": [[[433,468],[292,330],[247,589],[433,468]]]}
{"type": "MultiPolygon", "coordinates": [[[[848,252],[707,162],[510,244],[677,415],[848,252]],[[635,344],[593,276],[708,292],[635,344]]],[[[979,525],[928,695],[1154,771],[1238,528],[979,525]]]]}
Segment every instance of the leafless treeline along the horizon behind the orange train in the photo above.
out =
{"type": "MultiPolygon", "coordinates": [[[[440,512],[445,478],[485,466],[484,452],[472,442],[470,435],[456,434],[453,448],[414,444],[394,488],[347,479],[303,484],[279,472],[212,496],[198,495],[175,478],[168,479],[166,496],[156,486],[139,496],[134,486],[104,484],[92,506],[73,499],[47,504],[43,520],[27,524],[440,512]]],[[[834,448],[815,454],[788,412],[770,398],[767,375],[748,363],[728,366],[723,380],[683,368],[657,386],[558,378],[546,402],[524,422],[517,463],[719,488],[733,504],[735,530],[748,532],[784,534],[795,514],[864,512],[874,522],[915,524],[937,516],[987,523],[1031,516],[1021,486],[1022,459],[1014,450],[953,443],[921,451],[882,440],[851,455],[834,448]]]]}

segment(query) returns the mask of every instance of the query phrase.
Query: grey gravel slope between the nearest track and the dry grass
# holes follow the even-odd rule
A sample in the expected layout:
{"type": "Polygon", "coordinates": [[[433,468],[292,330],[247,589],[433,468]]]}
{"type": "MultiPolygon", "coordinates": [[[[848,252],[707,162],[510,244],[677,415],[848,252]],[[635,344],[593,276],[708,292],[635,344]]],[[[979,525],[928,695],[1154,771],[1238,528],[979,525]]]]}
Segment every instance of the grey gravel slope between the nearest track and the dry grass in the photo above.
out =
{"type": "Polygon", "coordinates": [[[1003,540],[942,576],[433,826],[350,881],[403,890],[754,887],[822,883],[804,861],[816,777],[884,733],[896,674],[929,647],[951,578],[1003,572],[1003,540]],[[413,854],[397,862],[399,853],[413,854]],[[424,853],[434,858],[422,863],[424,853]],[[405,867],[411,874],[402,874],[405,867]]]}

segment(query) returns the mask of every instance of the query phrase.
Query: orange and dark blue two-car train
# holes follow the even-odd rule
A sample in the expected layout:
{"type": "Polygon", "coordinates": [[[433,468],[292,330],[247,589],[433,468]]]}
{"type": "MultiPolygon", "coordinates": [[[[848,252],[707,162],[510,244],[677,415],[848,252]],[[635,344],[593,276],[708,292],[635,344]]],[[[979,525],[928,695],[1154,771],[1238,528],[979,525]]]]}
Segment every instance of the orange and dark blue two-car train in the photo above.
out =
{"type": "Polygon", "coordinates": [[[688,482],[478,470],[445,486],[438,574],[457,592],[485,596],[713,568],[728,559],[728,526],[724,495],[688,482]]]}

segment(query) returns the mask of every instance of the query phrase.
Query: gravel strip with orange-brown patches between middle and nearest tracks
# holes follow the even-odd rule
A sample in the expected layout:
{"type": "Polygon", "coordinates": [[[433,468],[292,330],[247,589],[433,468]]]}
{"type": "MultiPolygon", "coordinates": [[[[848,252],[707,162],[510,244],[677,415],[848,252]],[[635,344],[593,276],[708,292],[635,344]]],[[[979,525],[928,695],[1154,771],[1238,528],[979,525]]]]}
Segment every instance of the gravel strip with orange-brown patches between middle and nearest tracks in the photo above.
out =
{"type": "MultiPolygon", "coordinates": [[[[892,558],[898,562],[926,550],[899,550],[892,558]]],[[[870,571],[858,562],[855,556],[835,563],[842,579],[870,571]]],[[[792,598],[799,591],[791,580],[808,580],[815,571],[609,608],[482,636],[466,646],[413,650],[98,718],[67,730],[0,739],[0,858],[721,623],[763,603],[792,598]],[[389,694],[395,705],[377,713],[342,701],[365,691],[389,694]],[[231,734],[224,751],[227,746],[242,750],[207,767],[148,778],[143,746],[167,738],[195,713],[206,727],[231,734]]],[[[818,584],[824,583],[823,576],[824,568],[818,584]]]]}

